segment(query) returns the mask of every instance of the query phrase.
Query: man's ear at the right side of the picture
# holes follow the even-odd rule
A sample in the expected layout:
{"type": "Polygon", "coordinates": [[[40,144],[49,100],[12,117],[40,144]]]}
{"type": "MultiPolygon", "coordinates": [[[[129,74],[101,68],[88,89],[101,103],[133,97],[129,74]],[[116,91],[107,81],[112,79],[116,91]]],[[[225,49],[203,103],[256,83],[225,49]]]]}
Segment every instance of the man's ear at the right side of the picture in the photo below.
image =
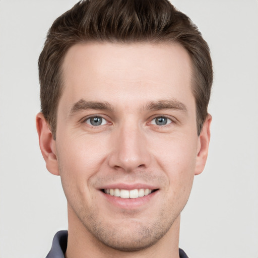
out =
{"type": "Polygon", "coordinates": [[[202,132],[198,139],[198,154],[196,158],[195,175],[201,174],[206,164],[210,137],[211,137],[211,132],[210,132],[211,121],[212,121],[212,116],[208,114],[203,124],[202,132]]]}

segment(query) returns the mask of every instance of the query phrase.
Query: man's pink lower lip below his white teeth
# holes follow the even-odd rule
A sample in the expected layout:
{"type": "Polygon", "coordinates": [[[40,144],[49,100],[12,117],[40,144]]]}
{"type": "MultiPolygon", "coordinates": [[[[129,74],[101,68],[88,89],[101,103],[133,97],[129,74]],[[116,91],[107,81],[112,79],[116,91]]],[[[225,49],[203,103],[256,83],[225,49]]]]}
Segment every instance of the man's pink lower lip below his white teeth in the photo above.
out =
{"type": "Polygon", "coordinates": [[[104,198],[111,203],[112,205],[115,205],[122,209],[137,209],[139,207],[142,207],[143,205],[148,204],[150,201],[152,201],[158,193],[158,190],[150,193],[148,196],[144,197],[138,197],[138,198],[120,198],[108,195],[107,193],[104,193],[101,191],[102,195],[104,195],[104,198]]]}

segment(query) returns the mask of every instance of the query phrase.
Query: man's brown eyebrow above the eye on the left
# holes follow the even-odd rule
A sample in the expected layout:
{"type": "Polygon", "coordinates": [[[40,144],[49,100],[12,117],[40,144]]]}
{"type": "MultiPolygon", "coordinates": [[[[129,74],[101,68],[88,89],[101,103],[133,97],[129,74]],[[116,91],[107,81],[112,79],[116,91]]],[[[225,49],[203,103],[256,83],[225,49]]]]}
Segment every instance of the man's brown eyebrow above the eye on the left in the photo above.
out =
{"type": "Polygon", "coordinates": [[[80,99],[72,106],[72,108],[70,108],[69,116],[73,116],[80,111],[88,109],[113,111],[114,108],[107,102],[86,101],[84,99],[80,99]]]}

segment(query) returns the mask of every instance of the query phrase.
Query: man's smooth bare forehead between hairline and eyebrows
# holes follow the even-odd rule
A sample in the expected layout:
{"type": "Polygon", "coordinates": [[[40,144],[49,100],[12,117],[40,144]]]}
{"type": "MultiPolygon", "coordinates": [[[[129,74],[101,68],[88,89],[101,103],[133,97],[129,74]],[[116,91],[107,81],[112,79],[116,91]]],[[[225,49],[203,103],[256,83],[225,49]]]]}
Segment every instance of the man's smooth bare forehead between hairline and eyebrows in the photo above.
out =
{"type": "Polygon", "coordinates": [[[193,98],[191,60],[176,43],[76,44],[64,58],[62,73],[61,99],[70,104],[82,98],[122,105],[132,99],[193,98]]]}

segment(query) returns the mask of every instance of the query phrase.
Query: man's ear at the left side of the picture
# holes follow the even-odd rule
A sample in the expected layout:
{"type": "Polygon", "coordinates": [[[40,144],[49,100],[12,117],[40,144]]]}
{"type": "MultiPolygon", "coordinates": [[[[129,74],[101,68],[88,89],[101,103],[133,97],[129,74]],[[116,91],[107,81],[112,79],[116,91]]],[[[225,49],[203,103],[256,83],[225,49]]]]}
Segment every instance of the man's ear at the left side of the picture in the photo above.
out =
{"type": "Polygon", "coordinates": [[[46,162],[46,168],[50,173],[59,175],[55,140],[53,139],[52,133],[49,129],[50,126],[42,113],[37,114],[36,125],[39,147],[46,162]]]}

